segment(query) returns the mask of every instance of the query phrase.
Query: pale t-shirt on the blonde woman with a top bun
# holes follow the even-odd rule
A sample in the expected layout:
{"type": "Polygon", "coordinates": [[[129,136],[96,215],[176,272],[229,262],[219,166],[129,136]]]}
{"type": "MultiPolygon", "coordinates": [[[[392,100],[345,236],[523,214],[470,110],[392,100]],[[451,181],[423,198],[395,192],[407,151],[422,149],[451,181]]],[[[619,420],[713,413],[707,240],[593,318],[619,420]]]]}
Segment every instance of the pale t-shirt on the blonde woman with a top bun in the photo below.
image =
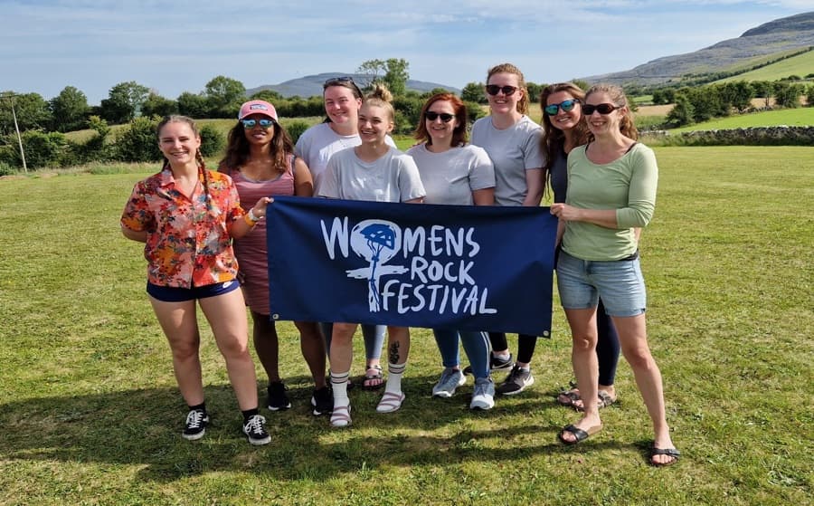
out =
{"type": "Polygon", "coordinates": [[[317,186],[317,196],[345,200],[405,202],[424,195],[418,167],[396,148],[373,162],[358,158],[354,148],[343,149],[328,160],[317,186]]]}

